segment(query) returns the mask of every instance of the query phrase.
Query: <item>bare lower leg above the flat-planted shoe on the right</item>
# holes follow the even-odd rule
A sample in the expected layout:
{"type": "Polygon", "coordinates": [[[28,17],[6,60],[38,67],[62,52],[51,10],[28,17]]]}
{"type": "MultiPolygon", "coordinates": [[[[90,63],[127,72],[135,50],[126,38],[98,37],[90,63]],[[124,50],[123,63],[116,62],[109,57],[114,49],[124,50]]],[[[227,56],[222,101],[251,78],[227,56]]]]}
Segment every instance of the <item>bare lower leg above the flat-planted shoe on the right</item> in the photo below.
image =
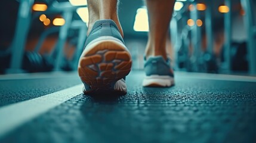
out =
{"type": "Polygon", "coordinates": [[[146,57],[162,55],[167,58],[165,46],[174,2],[175,0],[147,0],[150,32],[146,57]]]}

